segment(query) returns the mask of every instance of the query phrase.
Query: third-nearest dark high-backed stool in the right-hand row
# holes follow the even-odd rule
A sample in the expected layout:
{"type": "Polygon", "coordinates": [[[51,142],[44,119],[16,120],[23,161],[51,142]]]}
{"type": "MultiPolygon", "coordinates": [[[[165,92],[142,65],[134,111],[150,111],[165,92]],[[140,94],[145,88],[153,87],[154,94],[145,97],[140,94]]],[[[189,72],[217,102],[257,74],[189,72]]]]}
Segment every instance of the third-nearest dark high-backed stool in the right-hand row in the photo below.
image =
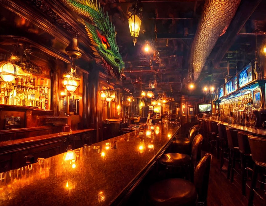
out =
{"type": "Polygon", "coordinates": [[[238,140],[237,140],[237,130],[226,128],[228,148],[229,148],[229,161],[227,169],[227,179],[230,178],[230,181],[234,181],[234,171],[236,165],[236,153],[239,152],[238,140]]]}

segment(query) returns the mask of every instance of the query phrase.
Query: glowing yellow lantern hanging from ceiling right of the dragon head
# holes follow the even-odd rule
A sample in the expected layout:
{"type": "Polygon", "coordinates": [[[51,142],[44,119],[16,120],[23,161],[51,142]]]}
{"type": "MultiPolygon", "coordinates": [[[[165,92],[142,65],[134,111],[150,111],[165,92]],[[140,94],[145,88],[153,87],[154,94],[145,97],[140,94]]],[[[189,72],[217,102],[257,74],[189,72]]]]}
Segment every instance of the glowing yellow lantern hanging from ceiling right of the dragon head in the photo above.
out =
{"type": "Polygon", "coordinates": [[[137,43],[136,37],[139,36],[139,30],[141,26],[141,12],[142,7],[140,6],[139,2],[136,2],[132,5],[131,12],[129,12],[129,19],[128,19],[128,25],[129,25],[129,31],[131,36],[133,36],[133,42],[134,46],[137,43]]]}

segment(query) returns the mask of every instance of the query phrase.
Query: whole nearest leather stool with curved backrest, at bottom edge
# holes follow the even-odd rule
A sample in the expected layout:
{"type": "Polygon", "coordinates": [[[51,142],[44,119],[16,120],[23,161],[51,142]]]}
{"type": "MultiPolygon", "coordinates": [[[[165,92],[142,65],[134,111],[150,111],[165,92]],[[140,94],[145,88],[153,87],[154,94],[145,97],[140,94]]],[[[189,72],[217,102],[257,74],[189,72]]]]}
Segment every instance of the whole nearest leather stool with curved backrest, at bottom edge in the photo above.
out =
{"type": "Polygon", "coordinates": [[[172,178],[154,183],[148,189],[148,201],[158,206],[206,205],[212,155],[205,154],[194,172],[194,184],[190,181],[172,178]]]}

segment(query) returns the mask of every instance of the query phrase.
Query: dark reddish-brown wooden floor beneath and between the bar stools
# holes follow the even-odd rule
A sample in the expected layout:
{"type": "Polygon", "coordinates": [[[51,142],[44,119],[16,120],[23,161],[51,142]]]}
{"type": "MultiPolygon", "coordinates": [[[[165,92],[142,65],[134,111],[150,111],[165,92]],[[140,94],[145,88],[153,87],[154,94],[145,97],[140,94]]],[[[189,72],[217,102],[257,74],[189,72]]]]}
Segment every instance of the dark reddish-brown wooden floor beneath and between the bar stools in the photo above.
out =
{"type": "MultiPolygon", "coordinates": [[[[203,155],[207,152],[202,152],[203,155]]],[[[209,153],[209,152],[208,152],[209,153]]],[[[246,187],[247,195],[242,195],[241,190],[241,177],[239,174],[235,173],[233,183],[227,179],[227,165],[228,162],[225,161],[225,164],[220,170],[220,160],[213,155],[212,158],[212,167],[209,178],[209,188],[208,188],[208,198],[207,198],[207,206],[247,206],[248,205],[248,195],[249,188],[246,187]]],[[[239,167],[236,165],[236,168],[239,167]]],[[[155,171],[155,176],[158,174],[158,171],[155,171]]],[[[128,201],[127,206],[147,206],[147,200],[145,198],[145,194],[147,192],[147,188],[155,179],[152,179],[151,176],[148,175],[146,180],[144,180],[139,188],[135,191],[135,194],[131,196],[128,201]]],[[[157,180],[158,181],[158,180],[157,180]]],[[[250,183],[250,181],[248,182],[250,183]]],[[[263,206],[262,200],[260,200],[256,195],[254,196],[254,206],[263,206]]]]}

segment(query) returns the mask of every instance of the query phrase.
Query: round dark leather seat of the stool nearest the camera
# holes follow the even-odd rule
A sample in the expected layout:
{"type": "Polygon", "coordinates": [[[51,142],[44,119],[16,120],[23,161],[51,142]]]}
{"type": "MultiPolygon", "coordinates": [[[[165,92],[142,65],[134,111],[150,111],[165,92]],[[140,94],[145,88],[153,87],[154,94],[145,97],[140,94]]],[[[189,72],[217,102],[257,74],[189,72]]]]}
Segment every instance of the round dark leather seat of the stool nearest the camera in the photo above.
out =
{"type": "Polygon", "coordinates": [[[198,199],[194,184],[179,178],[166,179],[154,183],[148,190],[148,196],[150,202],[158,206],[196,205],[198,199]]]}

